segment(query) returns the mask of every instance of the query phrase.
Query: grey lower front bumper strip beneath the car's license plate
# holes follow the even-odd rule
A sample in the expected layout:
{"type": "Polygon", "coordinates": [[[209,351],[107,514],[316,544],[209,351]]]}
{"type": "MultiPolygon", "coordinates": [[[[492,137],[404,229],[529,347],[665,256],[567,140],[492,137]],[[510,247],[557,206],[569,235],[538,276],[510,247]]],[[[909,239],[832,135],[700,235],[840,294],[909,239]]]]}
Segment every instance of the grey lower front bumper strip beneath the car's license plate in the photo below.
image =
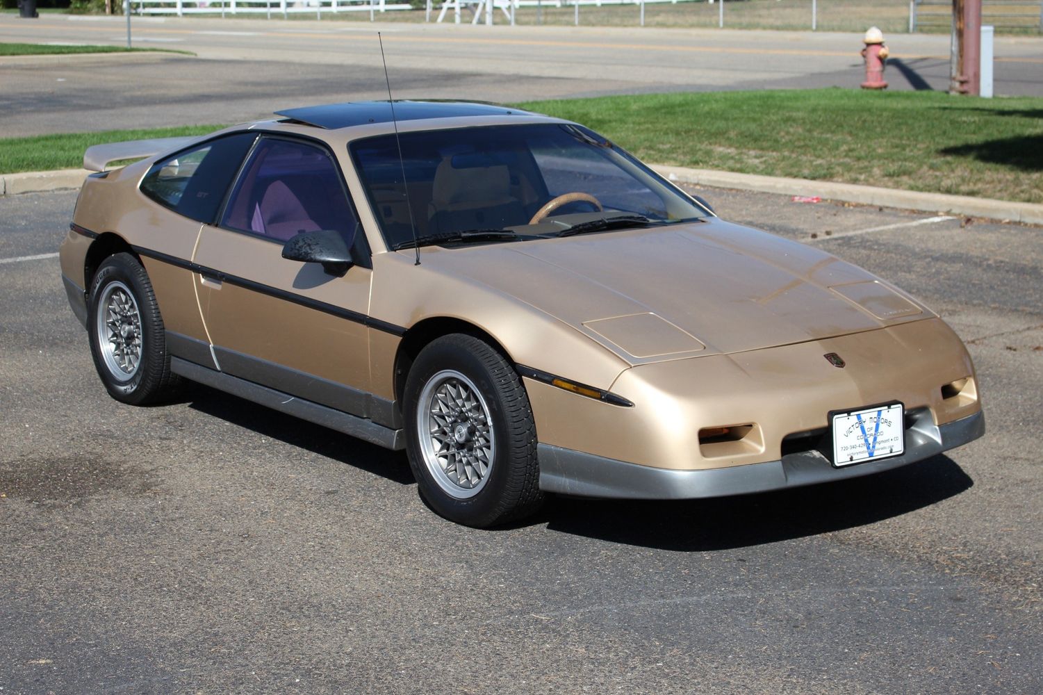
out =
{"type": "Polygon", "coordinates": [[[777,461],[702,471],[655,469],[584,454],[550,445],[538,446],[539,486],[576,497],[633,500],[683,500],[766,493],[786,487],[844,480],[890,471],[940,454],[985,434],[978,412],[941,427],[924,410],[905,431],[905,453],[893,458],[833,468],[817,451],[789,454],[777,461]]]}

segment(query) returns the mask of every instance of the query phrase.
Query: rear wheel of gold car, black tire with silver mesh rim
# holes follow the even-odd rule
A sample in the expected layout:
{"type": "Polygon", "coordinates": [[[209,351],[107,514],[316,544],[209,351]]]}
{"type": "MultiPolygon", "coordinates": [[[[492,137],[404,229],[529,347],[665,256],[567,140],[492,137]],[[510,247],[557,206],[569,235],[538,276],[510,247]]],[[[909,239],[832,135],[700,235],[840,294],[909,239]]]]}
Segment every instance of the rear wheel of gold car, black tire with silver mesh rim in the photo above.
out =
{"type": "Polygon", "coordinates": [[[110,256],[95,273],[88,295],[87,331],[94,366],[117,401],[144,405],[169,400],[179,390],[181,379],[170,372],[152,283],[130,254],[110,256]],[[121,328],[114,331],[116,327],[121,328]]]}

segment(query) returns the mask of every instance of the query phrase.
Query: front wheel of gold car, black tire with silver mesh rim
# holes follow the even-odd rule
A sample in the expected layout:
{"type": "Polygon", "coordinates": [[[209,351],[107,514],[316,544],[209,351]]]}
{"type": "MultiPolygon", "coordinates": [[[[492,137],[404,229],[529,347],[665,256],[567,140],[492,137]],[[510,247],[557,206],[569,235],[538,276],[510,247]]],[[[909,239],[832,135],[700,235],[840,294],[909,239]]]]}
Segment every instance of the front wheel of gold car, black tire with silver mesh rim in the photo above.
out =
{"type": "Polygon", "coordinates": [[[420,496],[436,512],[458,524],[485,528],[523,519],[539,508],[543,494],[539,489],[532,408],[517,373],[499,352],[469,335],[453,334],[432,341],[409,372],[404,402],[409,463],[420,496]],[[456,391],[452,391],[454,384],[456,391]],[[431,405],[439,393],[450,392],[439,390],[440,386],[455,393],[467,393],[474,386],[480,398],[472,399],[475,407],[456,415],[453,425],[439,427],[440,434],[429,434],[431,405]],[[481,468],[479,458],[489,461],[478,482],[464,481],[472,485],[469,488],[454,483],[454,476],[461,477],[456,462],[461,459],[454,458],[456,453],[445,459],[448,462],[444,466],[432,455],[437,447],[444,446],[436,436],[447,437],[454,428],[463,428],[467,440],[453,439],[447,446],[459,447],[459,456],[478,460],[470,469],[476,476],[481,468]],[[470,435],[466,434],[467,428],[470,435]],[[485,448],[485,444],[490,447],[485,448]],[[480,449],[481,454],[470,454],[480,449]]]}

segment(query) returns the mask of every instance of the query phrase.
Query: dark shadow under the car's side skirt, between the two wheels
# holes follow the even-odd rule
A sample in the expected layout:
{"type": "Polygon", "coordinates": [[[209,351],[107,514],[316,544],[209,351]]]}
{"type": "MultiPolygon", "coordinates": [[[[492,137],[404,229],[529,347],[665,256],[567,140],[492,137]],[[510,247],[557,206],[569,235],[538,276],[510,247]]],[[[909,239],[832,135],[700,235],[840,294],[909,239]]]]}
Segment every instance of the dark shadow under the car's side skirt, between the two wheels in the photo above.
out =
{"type": "Polygon", "coordinates": [[[193,410],[220,417],[291,447],[353,465],[391,482],[401,485],[416,482],[403,452],[389,451],[202,384],[192,384],[180,401],[193,410]]]}

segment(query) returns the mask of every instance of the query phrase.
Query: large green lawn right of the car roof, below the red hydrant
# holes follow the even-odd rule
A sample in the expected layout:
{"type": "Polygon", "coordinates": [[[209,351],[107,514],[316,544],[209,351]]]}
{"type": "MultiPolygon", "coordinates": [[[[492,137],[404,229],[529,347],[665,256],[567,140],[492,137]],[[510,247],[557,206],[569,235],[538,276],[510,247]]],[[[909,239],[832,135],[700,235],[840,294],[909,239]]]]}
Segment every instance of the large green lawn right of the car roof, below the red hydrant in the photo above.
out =
{"type": "Polygon", "coordinates": [[[1043,202],[1040,97],[826,89],[518,105],[588,125],[646,162],[1043,202]]]}

